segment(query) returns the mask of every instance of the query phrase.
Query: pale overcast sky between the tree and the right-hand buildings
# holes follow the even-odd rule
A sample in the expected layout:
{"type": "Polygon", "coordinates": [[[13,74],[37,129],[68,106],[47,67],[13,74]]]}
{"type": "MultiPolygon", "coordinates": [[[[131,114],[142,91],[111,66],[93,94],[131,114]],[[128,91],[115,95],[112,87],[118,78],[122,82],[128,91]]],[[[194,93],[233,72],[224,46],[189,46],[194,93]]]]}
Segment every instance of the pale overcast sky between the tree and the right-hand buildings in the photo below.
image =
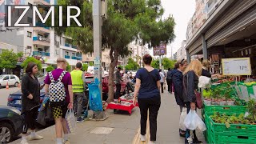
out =
{"type": "Polygon", "coordinates": [[[176,22],[174,29],[176,38],[170,46],[167,46],[167,57],[170,57],[170,47],[173,48],[174,54],[181,47],[182,40],[186,40],[186,27],[194,14],[195,0],[161,0],[161,2],[165,10],[162,18],[166,18],[172,14],[176,22]]]}

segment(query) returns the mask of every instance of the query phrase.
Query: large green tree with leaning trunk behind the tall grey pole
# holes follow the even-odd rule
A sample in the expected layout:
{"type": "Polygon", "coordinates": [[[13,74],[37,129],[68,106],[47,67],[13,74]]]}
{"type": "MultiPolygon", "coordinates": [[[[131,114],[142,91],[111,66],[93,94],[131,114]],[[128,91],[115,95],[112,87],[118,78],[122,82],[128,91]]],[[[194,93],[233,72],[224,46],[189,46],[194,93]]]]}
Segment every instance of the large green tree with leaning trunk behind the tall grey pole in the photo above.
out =
{"type": "MultiPolygon", "coordinates": [[[[56,28],[57,34],[66,34],[72,38],[72,44],[84,53],[93,52],[93,18],[91,0],[78,1],[83,6],[83,26],[56,28]]],[[[59,0],[59,5],[69,5],[70,0],[59,0]]],[[[102,25],[102,50],[110,49],[109,99],[114,98],[114,68],[118,56],[130,54],[128,44],[138,42],[149,48],[160,42],[170,43],[174,39],[174,18],[162,19],[161,0],[108,1],[108,18],[102,25]]],[[[58,18],[58,14],[56,14],[58,18]]]]}

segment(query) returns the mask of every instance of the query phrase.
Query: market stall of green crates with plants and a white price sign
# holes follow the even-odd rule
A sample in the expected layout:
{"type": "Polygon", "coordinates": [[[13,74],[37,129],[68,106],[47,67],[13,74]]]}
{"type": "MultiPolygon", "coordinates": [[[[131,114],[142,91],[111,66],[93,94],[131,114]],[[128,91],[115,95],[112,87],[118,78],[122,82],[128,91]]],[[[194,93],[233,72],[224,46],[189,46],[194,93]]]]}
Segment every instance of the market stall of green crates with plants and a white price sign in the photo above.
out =
{"type": "Polygon", "coordinates": [[[256,142],[256,82],[249,77],[250,58],[222,59],[226,76],[202,90],[202,119],[207,143],[256,142]]]}

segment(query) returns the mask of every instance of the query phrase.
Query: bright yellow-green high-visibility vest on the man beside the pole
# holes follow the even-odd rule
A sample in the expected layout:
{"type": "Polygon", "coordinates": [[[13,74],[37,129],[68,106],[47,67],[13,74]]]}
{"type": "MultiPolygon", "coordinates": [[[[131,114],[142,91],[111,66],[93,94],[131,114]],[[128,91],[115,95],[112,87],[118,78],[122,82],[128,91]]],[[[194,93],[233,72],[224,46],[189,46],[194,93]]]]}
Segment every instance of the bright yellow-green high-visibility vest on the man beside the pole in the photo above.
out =
{"type": "Polygon", "coordinates": [[[71,71],[72,78],[72,90],[74,93],[82,93],[84,91],[83,81],[82,81],[82,70],[71,71]]]}

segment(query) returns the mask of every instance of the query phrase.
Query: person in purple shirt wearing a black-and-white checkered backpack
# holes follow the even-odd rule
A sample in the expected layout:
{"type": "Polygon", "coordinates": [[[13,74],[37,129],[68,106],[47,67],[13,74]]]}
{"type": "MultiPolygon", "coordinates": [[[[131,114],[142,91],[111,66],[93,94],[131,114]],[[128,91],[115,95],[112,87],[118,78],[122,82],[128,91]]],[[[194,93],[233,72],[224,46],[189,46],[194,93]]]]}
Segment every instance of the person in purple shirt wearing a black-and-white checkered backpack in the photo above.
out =
{"type": "Polygon", "coordinates": [[[66,59],[58,58],[57,69],[50,72],[45,79],[46,94],[50,95],[50,106],[55,120],[57,144],[63,143],[62,132],[64,133],[64,143],[69,143],[65,116],[68,109],[73,109],[72,81],[70,73],[66,71],[66,66],[66,59]]]}

